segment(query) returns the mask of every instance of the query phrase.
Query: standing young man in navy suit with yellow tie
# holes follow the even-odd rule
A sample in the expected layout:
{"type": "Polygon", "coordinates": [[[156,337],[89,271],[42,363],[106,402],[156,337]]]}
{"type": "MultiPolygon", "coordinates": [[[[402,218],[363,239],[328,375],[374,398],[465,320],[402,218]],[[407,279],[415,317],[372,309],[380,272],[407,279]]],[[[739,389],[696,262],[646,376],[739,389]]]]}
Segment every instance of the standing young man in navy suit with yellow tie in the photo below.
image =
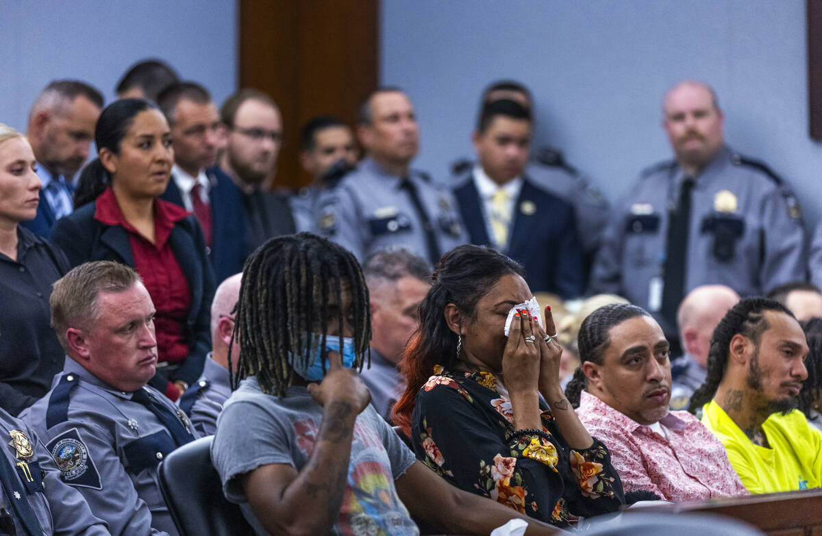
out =
{"type": "Polygon", "coordinates": [[[521,104],[485,104],[472,139],[478,162],[457,178],[454,193],[471,243],[519,261],[533,292],[575,298],[584,282],[574,208],[524,173],[531,130],[521,104]]]}

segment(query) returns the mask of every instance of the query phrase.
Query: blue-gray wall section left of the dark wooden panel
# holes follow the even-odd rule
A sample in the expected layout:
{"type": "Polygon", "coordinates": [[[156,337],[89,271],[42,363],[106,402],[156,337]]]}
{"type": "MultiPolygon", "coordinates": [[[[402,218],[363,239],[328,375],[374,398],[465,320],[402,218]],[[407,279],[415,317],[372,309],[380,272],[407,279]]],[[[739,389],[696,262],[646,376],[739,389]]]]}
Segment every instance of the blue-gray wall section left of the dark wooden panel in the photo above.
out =
{"type": "Polygon", "coordinates": [[[0,0],[0,122],[25,131],[31,103],[56,78],[113,99],[122,73],[147,57],[221,102],[237,80],[235,0],[0,0]]]}

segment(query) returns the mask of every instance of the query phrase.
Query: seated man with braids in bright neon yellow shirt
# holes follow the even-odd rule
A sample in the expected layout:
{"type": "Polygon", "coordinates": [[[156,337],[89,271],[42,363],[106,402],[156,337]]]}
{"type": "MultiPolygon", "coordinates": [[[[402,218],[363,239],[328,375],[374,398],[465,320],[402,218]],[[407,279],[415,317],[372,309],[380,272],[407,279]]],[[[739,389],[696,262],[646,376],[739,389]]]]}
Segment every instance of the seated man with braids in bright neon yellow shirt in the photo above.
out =
{"type": "Polygon", "coordinates": [[[708,377],[690,399],[751,493],[822,486],[822,436],[797,404],[808,344],[786,307],[746,298],[713,332],[708,377]]]}

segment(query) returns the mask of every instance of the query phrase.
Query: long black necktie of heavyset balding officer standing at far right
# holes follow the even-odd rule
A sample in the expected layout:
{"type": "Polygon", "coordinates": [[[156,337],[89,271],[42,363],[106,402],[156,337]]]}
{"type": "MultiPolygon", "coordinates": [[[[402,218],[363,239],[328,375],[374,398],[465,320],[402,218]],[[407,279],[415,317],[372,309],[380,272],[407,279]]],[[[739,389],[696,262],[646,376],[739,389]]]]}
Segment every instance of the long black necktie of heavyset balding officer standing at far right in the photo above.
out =
{"type": "Polygon", "coordinates": [[[682,180],[679,200],[674,210],[668,212],[668,232],[663,263],[663,302],[660,312],[669,329],[677,327],[677,307],[685,295],[685,276],[690,229],[690,196],[694,179],[682,180]]]}

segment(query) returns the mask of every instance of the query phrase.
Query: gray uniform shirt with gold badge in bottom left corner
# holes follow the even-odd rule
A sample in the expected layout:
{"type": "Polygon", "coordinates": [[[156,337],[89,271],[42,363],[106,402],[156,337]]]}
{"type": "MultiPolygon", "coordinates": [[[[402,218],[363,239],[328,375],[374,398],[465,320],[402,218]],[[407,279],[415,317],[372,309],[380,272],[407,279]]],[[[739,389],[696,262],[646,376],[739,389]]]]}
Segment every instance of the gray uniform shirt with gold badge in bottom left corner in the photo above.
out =
{"type": "Polygon", "coordinates": [[[109,534],[103,520],[91,514],[89,505],[83,496],[71,486],[67,486],[60,478],[60,471],[48,455],[43,443],[37,435],[25,426],[21,420],[13,418],[0,409],[0,433],[5,439],[2,441],[2,451],[6,461],[16,470],[20,477],[25,496],[17,499],[7,497],[3,487],[0,487],[0,502],[12,513],[17,534],[25,534],[20,520],[13,514],[11,501],[29,501],[31,509],[35,511],[43,534],[70,536],[74,534],[109,534]],[[18,458],[16,448],[12,446],[11,432],[22,432],[29,441],[32,455],[18,458]],[[18,466],[25,463],[25,469],[18,466]]]}

